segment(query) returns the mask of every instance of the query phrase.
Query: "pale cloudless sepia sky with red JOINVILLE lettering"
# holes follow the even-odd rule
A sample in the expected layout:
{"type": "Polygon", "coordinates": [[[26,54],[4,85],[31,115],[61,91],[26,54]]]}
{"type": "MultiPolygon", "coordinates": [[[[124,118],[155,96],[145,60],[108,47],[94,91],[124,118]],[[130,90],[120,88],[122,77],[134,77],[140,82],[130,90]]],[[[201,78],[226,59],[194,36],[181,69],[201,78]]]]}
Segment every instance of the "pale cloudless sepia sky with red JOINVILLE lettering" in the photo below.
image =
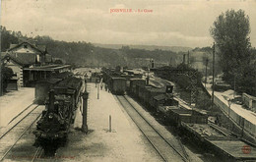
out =
{"type": "Polygon", "coordinates": [[[255,47],[256,0],[2,0],[1,26],[64,41],[194,48],[213,44],[210,27],[228,9],[249,16],[255,47]],[[110,12],[118,9],[132,12],[110,12]]]}

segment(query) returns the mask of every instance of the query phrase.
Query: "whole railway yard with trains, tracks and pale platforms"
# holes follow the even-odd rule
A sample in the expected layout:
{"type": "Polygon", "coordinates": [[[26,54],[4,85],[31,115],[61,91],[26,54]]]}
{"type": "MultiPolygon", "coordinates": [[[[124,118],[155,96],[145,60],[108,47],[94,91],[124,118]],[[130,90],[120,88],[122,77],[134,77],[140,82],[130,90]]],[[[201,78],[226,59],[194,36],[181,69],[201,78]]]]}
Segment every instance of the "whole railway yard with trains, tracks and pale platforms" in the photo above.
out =
{"type": "Polygon", "coordinates": [[[173,96],[171,81],[73,73],[81,80],[63,75],[0,98],[12,112],[1,110],[1,161],[256,160],[253,143],[173,96]]]}

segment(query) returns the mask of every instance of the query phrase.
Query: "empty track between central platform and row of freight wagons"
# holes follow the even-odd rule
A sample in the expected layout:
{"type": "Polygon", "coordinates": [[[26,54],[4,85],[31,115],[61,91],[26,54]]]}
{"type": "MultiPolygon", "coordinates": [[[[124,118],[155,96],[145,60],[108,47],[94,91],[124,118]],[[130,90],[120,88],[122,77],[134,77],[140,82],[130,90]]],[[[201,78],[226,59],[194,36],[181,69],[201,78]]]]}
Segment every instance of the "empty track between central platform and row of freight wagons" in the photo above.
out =
{"type": "Polygon", "coordinates": [[[130,115],[139,130],[147,137],[153,147],[160,154],[163,161],[190,161],[183,145],[174,147],[164,136],[160,135],[147,119],[145,119],[124,96],[117,96],[117,100],[130,115]]]}

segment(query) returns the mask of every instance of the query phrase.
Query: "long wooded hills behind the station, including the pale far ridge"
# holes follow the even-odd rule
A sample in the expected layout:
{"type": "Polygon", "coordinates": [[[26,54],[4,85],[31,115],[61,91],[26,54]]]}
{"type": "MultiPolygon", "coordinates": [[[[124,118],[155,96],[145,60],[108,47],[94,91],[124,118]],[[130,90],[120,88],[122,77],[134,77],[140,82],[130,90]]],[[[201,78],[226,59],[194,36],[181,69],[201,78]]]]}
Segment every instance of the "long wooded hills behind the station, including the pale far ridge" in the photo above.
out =
{"type": "Polygon", "coordinates": [[[124,45],[92,44],[90,42],[66,42],[54,40],[50,36],[24,36],[21,31],[9,31],[0,27],[1,52],[6,51],[10,44],[18,44],[20,40],[30,40],[36,45],[45,45],[54,58],[65,60],[67,64],[86,67],[116,67],[134,68],[149,67],[154,60],[155,67],[176,66],[182,62],[182,51],[187,53],[187,47],[168,47],[157,45],[124,45]]]}

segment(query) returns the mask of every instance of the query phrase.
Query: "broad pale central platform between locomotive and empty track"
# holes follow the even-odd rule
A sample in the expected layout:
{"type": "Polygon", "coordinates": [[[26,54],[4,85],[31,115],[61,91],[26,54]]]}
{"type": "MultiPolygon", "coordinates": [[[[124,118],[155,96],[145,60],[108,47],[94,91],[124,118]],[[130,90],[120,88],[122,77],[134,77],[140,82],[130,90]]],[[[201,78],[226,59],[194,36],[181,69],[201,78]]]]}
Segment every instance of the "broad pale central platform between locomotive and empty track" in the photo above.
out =
{"type": "MultiPolygon", "coordinates": [[[[67,144],[57,150],[54,161],[162,161],[111,93],[99,90],[97,99],[95,83],[88,83],[88,90],[89,133],[85,135],[74,129],[68,136],[67,144]]],[[[74,128],[81,126],[82,115],[78,110],[74,128]]]]}

